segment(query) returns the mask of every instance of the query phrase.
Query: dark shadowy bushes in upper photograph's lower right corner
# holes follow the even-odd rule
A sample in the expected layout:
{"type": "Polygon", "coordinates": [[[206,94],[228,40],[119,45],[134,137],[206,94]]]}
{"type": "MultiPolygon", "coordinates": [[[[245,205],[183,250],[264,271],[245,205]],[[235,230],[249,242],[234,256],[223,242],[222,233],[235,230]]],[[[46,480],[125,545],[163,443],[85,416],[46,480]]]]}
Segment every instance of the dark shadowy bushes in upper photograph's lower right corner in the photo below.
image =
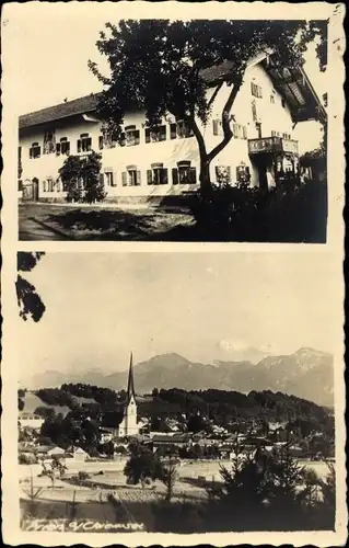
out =
{"type": "Polygon", "coordinates": [[[246,184],[198,194],[191,213],[206,239],[228,241],[326,241],[327,184],[289,180],[266,191],[246,184]]]}

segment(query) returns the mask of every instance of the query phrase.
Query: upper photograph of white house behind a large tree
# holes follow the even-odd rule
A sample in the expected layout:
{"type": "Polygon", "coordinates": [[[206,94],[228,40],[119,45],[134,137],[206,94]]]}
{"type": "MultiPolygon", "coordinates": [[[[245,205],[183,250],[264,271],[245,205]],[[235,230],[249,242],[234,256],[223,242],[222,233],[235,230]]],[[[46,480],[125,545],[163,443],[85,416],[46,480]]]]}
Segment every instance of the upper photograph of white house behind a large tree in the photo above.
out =
{"type": "Polygon", "coordinates": [[[326,243],[327,22],[101,14],[19,24],[20,240],[326,243]]]}

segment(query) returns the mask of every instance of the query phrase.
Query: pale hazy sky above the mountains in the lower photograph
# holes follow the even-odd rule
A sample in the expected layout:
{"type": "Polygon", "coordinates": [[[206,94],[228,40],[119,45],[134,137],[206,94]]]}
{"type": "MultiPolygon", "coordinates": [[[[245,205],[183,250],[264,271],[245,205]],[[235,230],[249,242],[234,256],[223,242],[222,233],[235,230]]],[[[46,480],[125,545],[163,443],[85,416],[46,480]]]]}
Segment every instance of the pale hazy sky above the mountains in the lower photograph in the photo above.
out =
{"type": "Polygon", "coordinates": [[[46,311],[18,319],[21,378],[124,370],[131,350],[135,363],[167,352],[229,361],[249,346],[331,352],[334,267],[309,251],[47,253],[27,274],[46,311]]]}

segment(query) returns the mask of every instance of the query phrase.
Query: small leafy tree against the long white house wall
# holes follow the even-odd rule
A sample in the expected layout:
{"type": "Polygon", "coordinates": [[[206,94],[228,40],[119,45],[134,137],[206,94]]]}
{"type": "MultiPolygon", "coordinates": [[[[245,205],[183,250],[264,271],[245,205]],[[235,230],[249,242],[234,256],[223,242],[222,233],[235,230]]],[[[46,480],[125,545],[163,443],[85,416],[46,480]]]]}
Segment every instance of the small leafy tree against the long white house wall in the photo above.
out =
{"type": "Polygon", "coordinates": [[[67,189],[67,202],[103,202],[106,196],[101,180],[102,156],[92,151],[85,157],[69,156],[59,169],[67,189]]]}

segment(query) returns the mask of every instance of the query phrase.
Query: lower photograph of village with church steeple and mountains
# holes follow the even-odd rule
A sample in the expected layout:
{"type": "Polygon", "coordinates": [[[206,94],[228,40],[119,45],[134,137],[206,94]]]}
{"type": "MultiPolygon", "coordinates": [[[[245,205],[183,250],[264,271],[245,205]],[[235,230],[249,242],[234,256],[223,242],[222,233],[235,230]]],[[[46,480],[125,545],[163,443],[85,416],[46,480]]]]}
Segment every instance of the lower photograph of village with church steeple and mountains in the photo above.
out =
{"type": "Polygon", "coordinates": [[[333,269],[20,252],[21,530],[334,532],[333,269]]]}

